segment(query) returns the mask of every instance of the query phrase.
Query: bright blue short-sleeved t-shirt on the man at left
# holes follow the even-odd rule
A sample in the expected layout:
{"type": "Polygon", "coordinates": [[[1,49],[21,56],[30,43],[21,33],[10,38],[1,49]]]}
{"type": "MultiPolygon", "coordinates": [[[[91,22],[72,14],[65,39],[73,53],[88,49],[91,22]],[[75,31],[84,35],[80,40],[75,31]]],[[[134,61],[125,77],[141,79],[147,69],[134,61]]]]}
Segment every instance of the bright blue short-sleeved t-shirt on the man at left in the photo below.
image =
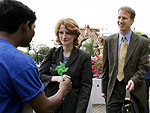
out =
{"type": "Polygon", "coordinates": [[[32,58],[0,38],[0,113],[20,113],[44,88],[32,58]]]}

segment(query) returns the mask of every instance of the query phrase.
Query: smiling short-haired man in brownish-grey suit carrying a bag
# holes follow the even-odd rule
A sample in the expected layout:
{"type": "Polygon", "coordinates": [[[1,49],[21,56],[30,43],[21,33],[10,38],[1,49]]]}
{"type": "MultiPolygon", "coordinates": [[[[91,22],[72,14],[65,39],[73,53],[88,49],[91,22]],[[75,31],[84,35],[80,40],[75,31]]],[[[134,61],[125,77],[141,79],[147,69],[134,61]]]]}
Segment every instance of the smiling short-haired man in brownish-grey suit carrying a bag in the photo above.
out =
{"type": "MultiPolygon", "coordinates": [[[[145,113],[146,91],[144,77],[148,72],[148,41],[135,34],[131,25],[135,11],[124,6],[118,10],[120,32],[109,36],[104,41],[102,96],[106,99],[107,113],[121,113],[126,91],[130,91],[140,113],[145,113]],[[122,68],[123,79],[118,79],[118,66],[122,37],[125,37],[127,54],[122,68]]],[[[121,50],[122,51],[122,50],[121,50]]]]}

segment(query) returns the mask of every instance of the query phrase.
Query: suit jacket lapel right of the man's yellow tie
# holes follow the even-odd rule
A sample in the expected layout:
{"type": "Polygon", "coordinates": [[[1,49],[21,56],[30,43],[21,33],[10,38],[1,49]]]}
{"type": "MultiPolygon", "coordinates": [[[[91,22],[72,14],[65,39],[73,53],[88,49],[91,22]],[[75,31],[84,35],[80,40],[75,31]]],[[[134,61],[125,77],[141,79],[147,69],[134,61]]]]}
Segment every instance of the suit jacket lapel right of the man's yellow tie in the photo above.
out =
{"type": "Polygon", "coordinates": [[[127,62],[129,61],[131,55],[133,54],[133,51],[136,48],[137,43],[138,43],[138,38],[136,37],[136,35],[134,33],[132,33],[130,43],[129,43],[129,47],[128,47],[128,50],[127,50],[125,66],[126,66],[127,62]]]}

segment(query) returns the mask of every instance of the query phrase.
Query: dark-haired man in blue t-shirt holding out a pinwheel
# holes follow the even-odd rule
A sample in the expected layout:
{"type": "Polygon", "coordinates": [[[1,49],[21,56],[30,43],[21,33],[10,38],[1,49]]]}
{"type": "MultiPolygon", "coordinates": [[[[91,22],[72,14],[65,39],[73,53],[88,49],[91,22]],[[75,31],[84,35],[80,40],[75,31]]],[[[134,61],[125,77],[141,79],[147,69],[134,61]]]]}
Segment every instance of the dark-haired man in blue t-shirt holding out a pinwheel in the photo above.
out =
{"type": "Polygon", "coordinates": [[[21,113],[24,103],[36,112],[53,112],[71,89],[66,76],[59,91],[47,98],[34,61],[16,49],[29,46],[35,20],[35,13],[21,2],[0,1],[0,113],[21,113]]]}

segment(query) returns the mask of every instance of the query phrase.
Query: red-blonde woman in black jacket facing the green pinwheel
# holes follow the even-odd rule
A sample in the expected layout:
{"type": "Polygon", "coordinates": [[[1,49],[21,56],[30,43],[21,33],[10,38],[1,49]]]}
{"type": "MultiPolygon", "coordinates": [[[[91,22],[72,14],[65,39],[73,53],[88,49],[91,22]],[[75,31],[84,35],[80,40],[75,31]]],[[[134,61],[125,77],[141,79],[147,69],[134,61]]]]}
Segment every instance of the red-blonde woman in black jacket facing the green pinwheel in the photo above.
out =
{"type": "Polygon", "coordinates": [[[55,50],[52,59],[54,48],[50,50],[39,71],[42,82],[47,86],[46,94],[51,96],[57,92],[62,78],[55,68],[63,62],[69,68],[64,74],[71,77],[72,90],[54,113],[86,113],[92,88],[91,56],[76,47],[79,45],[80,29],[73,19],[61,19],[56,25],[55,34],[60,47],[55,50]]]}

